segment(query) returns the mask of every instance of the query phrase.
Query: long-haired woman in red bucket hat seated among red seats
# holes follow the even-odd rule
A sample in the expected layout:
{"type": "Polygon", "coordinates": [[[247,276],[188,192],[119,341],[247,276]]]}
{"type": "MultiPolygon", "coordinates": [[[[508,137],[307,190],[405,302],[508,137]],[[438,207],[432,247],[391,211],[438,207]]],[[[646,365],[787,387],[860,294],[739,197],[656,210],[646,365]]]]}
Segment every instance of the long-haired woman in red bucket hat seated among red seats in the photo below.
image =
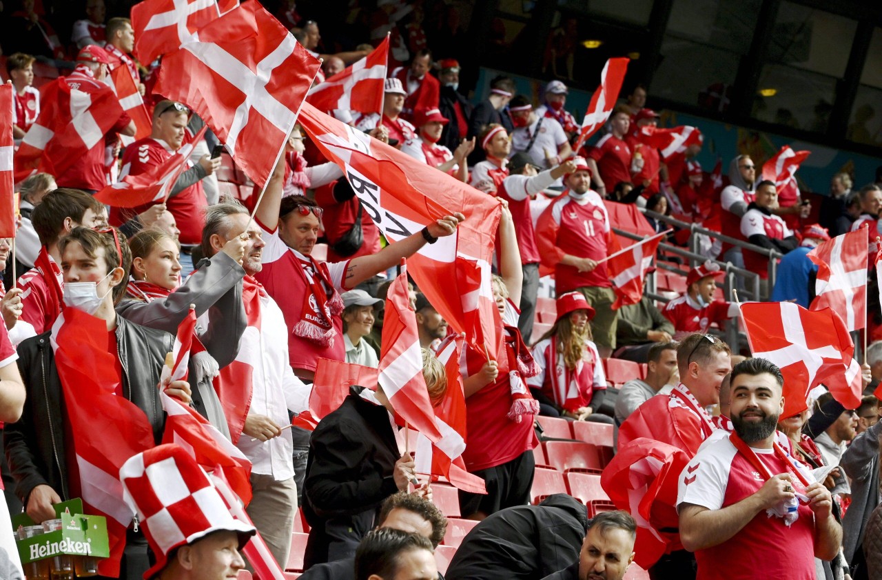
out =
{"type": "Polygon", "coordinates": [[[527,380],[541,415],[612,425],[611,417],[596,412],[606,394],[606,375],[591,341],[592,318],[594,308],[581,292],[557,298],[557,320],[533,347],[540,371],[527,380]]]}

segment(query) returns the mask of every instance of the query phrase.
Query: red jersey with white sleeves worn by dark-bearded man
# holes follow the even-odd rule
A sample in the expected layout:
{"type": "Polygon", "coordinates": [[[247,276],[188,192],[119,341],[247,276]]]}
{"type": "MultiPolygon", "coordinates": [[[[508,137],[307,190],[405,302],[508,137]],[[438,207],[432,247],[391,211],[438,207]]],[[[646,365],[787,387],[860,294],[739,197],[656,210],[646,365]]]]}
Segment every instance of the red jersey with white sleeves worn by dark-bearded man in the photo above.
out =
{"type": "MultiPolygon", "coordinates": [[[[794,464],[773,449],[754,448],[753,451],[771,473],[791,473],[794,464]]],[[[797,464],[808,480],[813,481],[811,472],[801,463],[797,464]]],[[[801,484],[796,477],[793,479],[798,490],[801,484]]],[[[756,493],[765,483],[766,479],[738,452],[729,437],[721,437],[703,445],[680,474],[677,506],[688,503],[711,510],[727,508],[756,493]]],[[[770,517],[762,510],[732,538],[696,550],[697,579],[814,580],[814,514],[802,501],[798,513],[796,522],[788,526],[781,517],[770,517]]]]}

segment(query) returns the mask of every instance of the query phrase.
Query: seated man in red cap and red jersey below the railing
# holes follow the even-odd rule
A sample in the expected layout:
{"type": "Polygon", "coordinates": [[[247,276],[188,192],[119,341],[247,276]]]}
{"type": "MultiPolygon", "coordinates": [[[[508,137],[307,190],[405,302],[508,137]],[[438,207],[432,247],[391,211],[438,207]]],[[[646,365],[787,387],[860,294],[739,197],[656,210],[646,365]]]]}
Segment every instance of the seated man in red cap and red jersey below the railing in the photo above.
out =
{"type": "Polygon", "coordinates": [[[716,282],[726,275],[720,267],[708,260],[693,267],[686,276],[686,293],[671,300],[662,314],[674,325],[674,339],[693,332],[707,332],[711,324],[738,314],[738,305],[715,300],[716,282]]]}

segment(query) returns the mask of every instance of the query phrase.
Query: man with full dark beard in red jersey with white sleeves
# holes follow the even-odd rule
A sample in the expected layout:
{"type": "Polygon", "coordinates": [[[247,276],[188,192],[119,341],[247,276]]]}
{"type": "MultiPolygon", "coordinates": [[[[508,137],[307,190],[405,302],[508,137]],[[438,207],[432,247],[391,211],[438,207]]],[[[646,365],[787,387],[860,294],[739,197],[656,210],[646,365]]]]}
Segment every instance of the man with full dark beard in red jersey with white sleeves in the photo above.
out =
{"type": "Polygon", "coordinates": [[[695,552],[699,580],[812,580],[814,558],[832,560],[839,550],[830,492],[778,442],[783,383],[765,358],[738,363],[735,432],[702,447],[680,475],[680,539],[695,552]]]}

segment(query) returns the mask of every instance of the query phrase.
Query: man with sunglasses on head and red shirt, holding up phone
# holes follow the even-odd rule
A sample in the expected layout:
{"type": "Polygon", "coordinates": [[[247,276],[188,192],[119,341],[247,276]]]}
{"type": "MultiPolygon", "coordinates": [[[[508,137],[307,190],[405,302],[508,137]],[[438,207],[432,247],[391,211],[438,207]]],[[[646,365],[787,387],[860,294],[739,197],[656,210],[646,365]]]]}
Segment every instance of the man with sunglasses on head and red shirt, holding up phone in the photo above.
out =
{"type": "MultiPolygon", "coordinates": [[[[135,141],[125,148],[120,177],[144,173],[175,154],[183,146],[189,117],[190,110],[179,102],[158,102],[153,109],[153,132],[150,137],[135,141]]],[[[175,216],[177,228],[181,230],[179,239],[182,245],[197,245],[202,241],[202,228],[205,225],[203,213],[208,203],[206,192],[199,182],[219,167],[220,159],[203,155],[196,165],[177,178],[172,187],[166,208],[175,216]]],[[[151,205],[153,204],[132,208],[112,207],[110,223],[121,225],[151,205]]]]}

